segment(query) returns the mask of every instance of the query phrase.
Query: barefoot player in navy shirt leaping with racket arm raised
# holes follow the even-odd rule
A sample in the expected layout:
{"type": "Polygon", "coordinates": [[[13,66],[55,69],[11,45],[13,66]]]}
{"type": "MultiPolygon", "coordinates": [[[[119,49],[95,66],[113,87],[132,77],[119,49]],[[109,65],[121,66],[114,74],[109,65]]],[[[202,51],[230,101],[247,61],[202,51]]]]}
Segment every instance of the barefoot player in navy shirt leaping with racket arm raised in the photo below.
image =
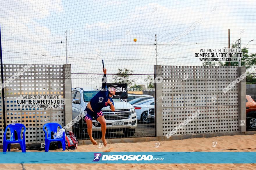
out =
{"type": "Polygon", "coordinates": [[[114,102],[112,100],[112,96],[115,95],[115,87],[110,87],[109,89],[106,86],[106,78],[104,80],[104,77],[106,76],[107,70],[106,68],[102,69],[104,72],[103,78],[102,78],[102,87],[101,90],[93,96],[93,98],[90,100],[90,102],[87,104],[85,111],[87,112],[85,116],[85,121],[87,125],[87,132],[90,137],[90,141],[93,143],[93,145],[97,145],[97,142],[93,139],[92,136],[92,128],[93,128],[93,117],[99,121],[101,124],[101,131],[102,131],[102,142],[103,145],[106,147],[107,141],[105,139],[106,134],[106,122],[104,115],[102,113],[102,108],[109,106],[111,111],[115,111],[114,102]]]}

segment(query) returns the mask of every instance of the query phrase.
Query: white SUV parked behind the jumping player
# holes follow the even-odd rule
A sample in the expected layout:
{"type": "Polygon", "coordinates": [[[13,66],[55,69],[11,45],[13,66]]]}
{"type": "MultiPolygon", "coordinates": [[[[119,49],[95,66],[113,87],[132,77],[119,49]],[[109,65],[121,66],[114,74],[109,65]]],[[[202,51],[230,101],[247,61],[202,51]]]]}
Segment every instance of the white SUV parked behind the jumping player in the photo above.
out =
{"type": "MultiPolygon", "coordinates": [[[[90,99],[99,91],[84,91],[82,88],[72,89],[72,119],[81,114],[90,99]],[[78,100],[77,100],[78,99],[78,100]]],[[[115,111],[112,112],[109,107],[104,107],[102,112],[105,117],[107,130],[111,132],[123,131],[125,136],[133,136],[137,127],[136,111],[132,105],[124,102],[121,99],[113,99],[115,111]]],[[[80,129],[79,133],[87,133],[84,118],[74,128],[80,129]]],[[[100,123],[93,118],[93,131],[101,131],[100,123]]]]}

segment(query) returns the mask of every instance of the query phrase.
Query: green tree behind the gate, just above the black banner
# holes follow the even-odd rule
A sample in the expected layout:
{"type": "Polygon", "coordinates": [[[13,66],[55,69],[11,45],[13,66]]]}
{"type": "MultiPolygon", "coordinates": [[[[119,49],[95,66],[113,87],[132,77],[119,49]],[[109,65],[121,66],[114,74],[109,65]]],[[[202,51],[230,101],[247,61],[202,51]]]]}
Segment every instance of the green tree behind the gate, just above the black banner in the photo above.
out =
{"type": "Polygon", "coordinates": [[[131,80],[130,76],[133,74],[132,70],[129,70],[127,68],[120,69],[118,68],[118,73],[114,74],[114,83],[127,83],[128,86],[131,86],[133,84],[133,80],[131,80]]]}

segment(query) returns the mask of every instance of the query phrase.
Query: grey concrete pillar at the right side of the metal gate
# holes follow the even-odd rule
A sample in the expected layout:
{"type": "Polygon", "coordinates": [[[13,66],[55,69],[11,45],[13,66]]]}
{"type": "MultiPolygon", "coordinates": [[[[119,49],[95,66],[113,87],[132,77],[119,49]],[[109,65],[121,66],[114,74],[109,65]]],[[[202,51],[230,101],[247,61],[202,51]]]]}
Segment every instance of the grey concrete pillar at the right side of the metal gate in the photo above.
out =
{"type": "MultiPolygon", "coordinates": [[[[154,65],[154,75],[162,77],[162,66],[154,65]]],[[[163,99],[162,99],[162,83],[155,83],[155,122],[156,122],[156,136],[163,136],[163,99]]]]}

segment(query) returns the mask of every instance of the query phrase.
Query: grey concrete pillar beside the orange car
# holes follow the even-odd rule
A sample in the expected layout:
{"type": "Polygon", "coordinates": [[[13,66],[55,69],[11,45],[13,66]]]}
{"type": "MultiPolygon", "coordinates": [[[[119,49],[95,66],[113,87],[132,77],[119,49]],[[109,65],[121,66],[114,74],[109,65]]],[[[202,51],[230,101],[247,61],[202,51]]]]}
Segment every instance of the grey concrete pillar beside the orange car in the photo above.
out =
{"type": "MultiPolygon", "coordinates": [[[[238,76],[246,73],[246,67],[238,67],[238,76]]],[[[238,119],[239,131],[246,131],[246,78],[238,83],[238,119]],[[244,125],[241,125],[241,120],[244,120],[244,125]]]]}

